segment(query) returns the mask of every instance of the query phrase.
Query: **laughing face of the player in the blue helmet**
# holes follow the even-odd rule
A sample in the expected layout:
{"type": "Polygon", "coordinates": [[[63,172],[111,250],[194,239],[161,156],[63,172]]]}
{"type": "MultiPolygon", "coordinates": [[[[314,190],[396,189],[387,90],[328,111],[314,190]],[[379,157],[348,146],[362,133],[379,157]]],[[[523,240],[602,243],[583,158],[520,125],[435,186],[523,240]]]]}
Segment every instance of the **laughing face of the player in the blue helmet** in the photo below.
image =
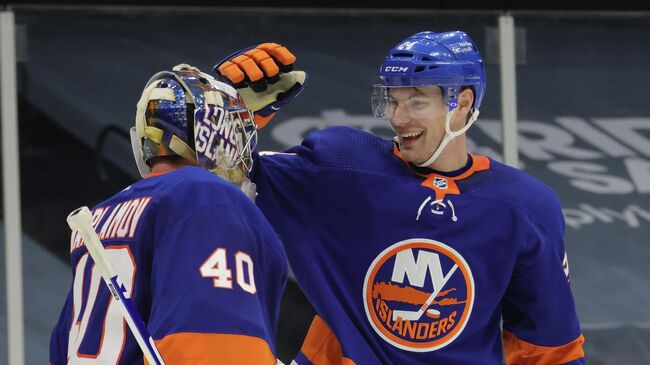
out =
{"type": "Polygon", "coordinates": [[[437,86],[392,88],[394,105],[390,125],[399,138],[402,157],[413,163],[426,161],[445,135],[447,108],[437,86]]]}

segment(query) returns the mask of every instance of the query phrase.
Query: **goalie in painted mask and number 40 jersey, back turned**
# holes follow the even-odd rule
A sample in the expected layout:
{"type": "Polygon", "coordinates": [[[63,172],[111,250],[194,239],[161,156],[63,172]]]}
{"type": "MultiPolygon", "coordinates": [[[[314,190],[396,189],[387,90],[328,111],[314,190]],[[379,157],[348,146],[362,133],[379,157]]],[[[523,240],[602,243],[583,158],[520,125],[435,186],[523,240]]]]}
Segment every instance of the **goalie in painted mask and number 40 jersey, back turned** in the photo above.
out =
{"type": "MultiPolygon", "coordinates": [[[[93,209],[93,226],[166,364],[276,364],[286,257],[248,195],[252,113],[187,65],[146,84],[132,130],[145,179],[93,209]]],[[[76,232],[72,288],[50,363],[142,364],[76,232]]]]}

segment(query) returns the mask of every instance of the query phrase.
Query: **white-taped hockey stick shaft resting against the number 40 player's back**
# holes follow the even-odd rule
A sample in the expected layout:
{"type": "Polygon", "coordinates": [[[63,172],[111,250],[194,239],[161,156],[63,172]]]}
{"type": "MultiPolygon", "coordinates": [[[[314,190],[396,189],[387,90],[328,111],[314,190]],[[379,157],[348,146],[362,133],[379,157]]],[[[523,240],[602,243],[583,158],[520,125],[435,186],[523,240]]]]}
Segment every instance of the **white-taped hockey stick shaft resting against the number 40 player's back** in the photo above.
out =
{"type": "Polygon", "coordinates": [[[95,261],[95,267],[99,269],[99,273],[104,278],[104,282],[111,294],[113,294],[113,299],[119,304],[122,315],[128,323],[133,336],[144,357],[147,359],[149,364],[153,365],[165,365],[165,362],[156,348],[156,344],[153,342],[153,338],[149,334],[147,327],[145,326],[142,318],[138,314],[138,311],[133,306],[131,298],[127,298],[124,294],[126,292],[122,280],[117,276],[113,265],[111,265],[110,260],[104,250],[104,245],[99,240],[97,232],[91,225],[92,214],[88,207],[81,207],[74,210],[70,215],[68,215],[68,225],[72,231],[78,231],[79,235],[83,239],[90,256],[95,261]]]}

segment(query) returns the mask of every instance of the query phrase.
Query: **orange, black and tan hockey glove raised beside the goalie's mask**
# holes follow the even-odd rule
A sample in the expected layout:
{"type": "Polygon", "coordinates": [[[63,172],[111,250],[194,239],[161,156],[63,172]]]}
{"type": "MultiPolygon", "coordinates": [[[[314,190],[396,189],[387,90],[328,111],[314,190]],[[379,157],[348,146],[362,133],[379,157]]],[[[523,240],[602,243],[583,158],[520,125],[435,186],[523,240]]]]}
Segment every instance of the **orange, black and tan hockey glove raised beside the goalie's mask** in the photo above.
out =
{"type": "Polygon", "coordinates": [[[235,52],[217,63],[212,74],[233,85],[247,108],[255,113],[255,124],[264,128],[275,112],[302,91],[307,74],[294,71],[296,56],[277,43],[263,43],[235,52]]]}

